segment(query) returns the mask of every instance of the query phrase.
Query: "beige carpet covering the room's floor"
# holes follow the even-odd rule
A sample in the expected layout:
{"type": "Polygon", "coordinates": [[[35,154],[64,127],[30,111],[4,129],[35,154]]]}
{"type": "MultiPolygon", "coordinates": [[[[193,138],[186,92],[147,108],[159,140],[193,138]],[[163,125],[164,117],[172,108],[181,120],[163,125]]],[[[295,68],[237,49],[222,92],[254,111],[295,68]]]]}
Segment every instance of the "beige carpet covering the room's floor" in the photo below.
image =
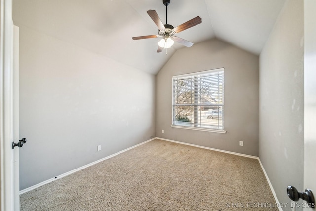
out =
{"type": "Polygon", "coordinates": [[[20,196],[21,211],[278,211],[275,203],[258,160],[162,140],[20,196]]]}

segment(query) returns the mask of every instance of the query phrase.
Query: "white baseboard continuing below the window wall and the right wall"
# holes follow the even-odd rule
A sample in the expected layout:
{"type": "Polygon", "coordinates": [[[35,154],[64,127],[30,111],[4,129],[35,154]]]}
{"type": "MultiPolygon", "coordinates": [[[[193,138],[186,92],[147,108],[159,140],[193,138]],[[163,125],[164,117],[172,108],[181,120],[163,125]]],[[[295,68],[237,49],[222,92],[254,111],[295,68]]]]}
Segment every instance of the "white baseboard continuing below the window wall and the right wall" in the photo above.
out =
{"type": "MultiPolygon", "coordinates": [[[[221,149],[215,149],[215,148],[210,148],[210,147],[204,147],[204,146],[200,146],[200,145],[195,145],[195,144],[189,144],[189,143],[185,143],[185,142],[180,142],[180,141],[174,141],[174,140],[170,140],[170,139],[165,139],[165,138],[159,138],[159,137],[156,137],[157,139],[160,139],[160,140],[163,140],[163,141],[170,141],[170,142],[174,142],[174,143],[178,143],[178,144],[185,144],[185,145],[189,145],[189,146],[194,146],[194,147],[199,147],[199,148],[203,148],[203,149],[209,149],[209,150],[214,150],[214,151],[218,151],[218,152],[224,152],[224,153],[228,153],[228,154],[233,154],[233,155],[238,155],[238,156],[243,156],[243,157],[248,157],[248,158],[253,158],[253,159],[257,159],[259,161],[259,164],[261,166],[261,169],[263,171],[263,173],[265,174],[265,177],[268,181],[268,184],[269,184],[269,187],[271,189],[271,192],[276,200],[276,204],[277,205],[280,205],[280,202],[278,201],[277,199],[277,196],[276,196],[276,192],[275,190],[273,189],[273,186],[269,180],[269,177],[268,177],[268,174],[266,172],[266,170],[263,168],[263,165],[260,161],[260,158],[257,157],[257,156],[252,156],[252,155],[246,155],[246,154],[241,154],[241,153],[236,153],[236,152],[230,152],[230,151],[226,151],[226,150],[221,150],[221,149]]],[[[283,209],[279,206],[278,207],[279,211],[283,211],[283,209]]]]}

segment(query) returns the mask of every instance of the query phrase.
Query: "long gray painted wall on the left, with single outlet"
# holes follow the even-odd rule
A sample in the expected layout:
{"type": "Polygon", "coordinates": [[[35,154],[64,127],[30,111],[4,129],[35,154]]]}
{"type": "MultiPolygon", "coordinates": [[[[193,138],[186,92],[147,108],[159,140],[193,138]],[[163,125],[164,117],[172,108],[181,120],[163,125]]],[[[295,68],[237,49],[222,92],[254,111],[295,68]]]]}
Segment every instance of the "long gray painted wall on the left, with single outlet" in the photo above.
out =
{"type": "Polygon", "coordinates": [[[21,190],[155,137],[155,76],[20,26],[20,137],[21,190]]]}

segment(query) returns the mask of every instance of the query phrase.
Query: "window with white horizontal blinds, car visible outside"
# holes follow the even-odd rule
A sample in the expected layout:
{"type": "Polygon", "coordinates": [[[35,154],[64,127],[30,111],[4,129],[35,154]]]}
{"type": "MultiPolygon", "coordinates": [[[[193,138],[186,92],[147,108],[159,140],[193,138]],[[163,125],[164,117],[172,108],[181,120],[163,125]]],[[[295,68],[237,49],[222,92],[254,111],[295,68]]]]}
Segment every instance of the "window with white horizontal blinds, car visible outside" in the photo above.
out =
{"type": "Polygon", "coordinates": [[[172,127],[225,133],[224,68],[172,79],[172,127]]]}

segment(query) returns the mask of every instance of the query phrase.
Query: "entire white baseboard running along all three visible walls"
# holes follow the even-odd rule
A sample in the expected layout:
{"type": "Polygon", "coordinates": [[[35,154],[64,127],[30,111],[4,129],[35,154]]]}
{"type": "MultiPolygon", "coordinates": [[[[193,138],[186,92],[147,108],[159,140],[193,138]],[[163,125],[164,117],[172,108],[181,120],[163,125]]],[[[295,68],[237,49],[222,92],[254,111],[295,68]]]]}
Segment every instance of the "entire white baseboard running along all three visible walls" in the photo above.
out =
{"type": "MultiPolygon", "coordinates": [[[[92,163],[90,163],[90,164],[84,165],[84,166],[82,166],[82,167],[79,167],[79,168],[77,168],[77,169],[68,171],[68,172],[63,173],[63,174],[61,174],[61,175],[59,175],[59,176],[56,176],[56,177],[54,177],[54,178],[48,179],[48,180],[46,180],[46,181],[43,181],[43,182],[41,182],[41,183],[39,183],[39,184],[36,184],[36,185],[33,185],[33,186],[28,187],[28,188],[26,188],[26,189],[23,189],[23,190],[20,191],[20,194],[26,193],[26,192],[28,192],[28,191],[30,191],[30,190],[33,190],[33,189],[35,189],[35,188],[38,188],[38,187],[40,187],[40,186],[42,186],[42,185],[48,184],[48,183],[50,183],[50,182],[52,182],[52,181],[55,181],[56,179],[60,179],[60,178],[62,178],[62,177],[65,177],[65,176],[67,176],[67,175],[70,175],[70,174],[72,174],[72,173],[75,173],[75,172],[77,172],[77,171],[79,171],[79,170],[81,170],[81,169],[85,169],[85,168],[87,168],[87,167],[89,167],[89,166],[92,166],[92,165],[97,164],[97,163],[99,163],[99,162],[101,162],[101,161],[107,160],[107,159],[109,159],[109,158],[112,158],[112,157],[114,157],[114,156],[116,156],[116,155],[118,155],[118,154],[120,154],[120,153],[126,152],[126,151],[128,151],[128,150],[130,150],[130,149],[133,149],[133,148],[135,148],[135,147],[138,147],[138,146],[140,146],[140,145],[142,145],[142,144],[145,144],[145,143],[150,142],[150,141],[155,140],[155,139],[160,139],[160,140],[163,140],[163,141],[170,141],[170,142],[174,142],[174,143],[178,143],[178,144],[184,144],[184,145],[189,145],[189,146],[193,146],[193,147],[199,147],[199,148],[203,148],[203,149],[209,149],[209,150],[214,150],[214,151],[218,151],[218,152],[229,153],[229,154],[233,154],[233,155],[238,155],[238,156],[243,156],[243,157],[248,157],[248,158],[257,159],[257,160],[259,161],[259,163],[260,163],[260,166],[261,166],[261,169],[262,169],[263,173],[265,174],[265,177],[266,177],[266,179],[267,179],[267,181],[268,181],[268,184],[269,184],[270,189],[271,189],[271,192],[272,192],[272,194],[273,194],[273,196],[274,196],[274,198],[275,198],[275,200],[276,200],[276,203],[279,205],[279,201],[278,201],[278,199],[277,199],[276,192],[274,191],[274,189],[273,189],[273,187],[272,187],[272,184],[271,184],[271,182],[270,182],[270,180],[269,180],[269,177],[268,177],[268,175],[267,175],[265,169],[263,168],[262,163],[261,163],[259,157],[257,157],[257,156],[252,156],[252,155],[241,154],[241,153],[236,153],[236,152],[230,152],[230,151],[226,151],[226,150],[220,150],[220,149],[210,148],[210,147],[204,147],[204,146],[200,146],[200,145],[189,144],[189,143],[185,143],[185,142],[174,141],[174,140],[165,139],[165,138],[159,138],[159,137],[155,137],[155,138],[149,139],[149,140],[147,140],[147,141],[144,141],[144,142],[142,142],[142,143],[136,144],[136,145],[134,145],[134,146],[132,146],[132,147],[129,147],[129,148],[124,149],[124,150],[121,150],[121,151],[119,151],[119,152],[117,152],[117,153],[114,153],[114,154],[112,154],[112,155],[109,155],[109,156],[107,156],[107,157],[105,157],[105,158],[102,158],[102,159],[100,159],[100,160],[94,161],[94,162],[92,162],[92,163]]],[[[282,209],[281,207],[279,207],[279,211],[283,211],[283,209],[282,209]]]]}

